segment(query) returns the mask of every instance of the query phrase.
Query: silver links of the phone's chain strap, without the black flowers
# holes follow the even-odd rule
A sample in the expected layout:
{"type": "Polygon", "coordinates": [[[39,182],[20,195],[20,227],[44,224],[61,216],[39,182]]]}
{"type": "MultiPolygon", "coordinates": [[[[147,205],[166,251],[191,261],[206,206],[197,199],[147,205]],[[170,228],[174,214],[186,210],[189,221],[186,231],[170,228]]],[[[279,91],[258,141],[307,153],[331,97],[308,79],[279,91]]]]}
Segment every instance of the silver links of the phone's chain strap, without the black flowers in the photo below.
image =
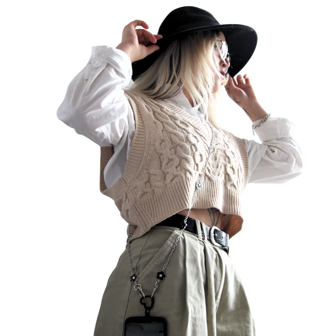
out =
{"type": "MultiPolygon", "coordinates": [[[[206,160],[206,162],[205,162],[205,166],[204,166],[204,169],[203,169],[203,173],[202,173],[202,175],[201,175],[201,178],[200,178],[200,180],[197,181],[197,182],[202,182],[203,177],[204,177],[205,172],[206,172],[206,168],[207,168],[207,165],[208,165],[210,156],[211,156],[211,154],[213,153],[213,140],[214,140],[215,134],[214,134],[214,131],[213,131],[213,126],[212,126],[208,121],[207,121],[207,124],[210,126],[210,128],[211,128],[211,132],[212,132],[212,137],[211,137],[211,142],[210,142],[210,147],[209,147],[209,155],[208,155],[208,158],[207,158],[207,160],[206,160]]],[[[190,211],[191,211],[191,209],[192,209],[192,207],[193,207],[193,205],[194,205],[196,195],[197,195],[199,189],[202,188],[202,184],[201,184],[201,187],[198,187],[198,186],[197,186],[197,182],[196,182],[196,186],[195,186],[195,189],[196,189],[196,190],[195,190],[195,192],[194,192],[194,196],[193,196],[193,199],[192,199],[192,201],[191,201],[190,208],[189,208],[189,210],[188,210],[188,212],[187,212],[187,215],[185,216],[184,221],[183,221],[183,222],[184,222],[184,226],[183,226],[183,228],[179,229],[179,232],[178,232],[178,234],[177,234],[176,241],[175,241],[174,246],[172,247],[172,249],[171,249],[171,251],[170,251],[170,254],[169,254],[168,258],[167,258],[167,261],[166,261],[165,265],[164,265],[163,268],[162,268],[162,272],[164,272],[164,270],[165,270],[166,267],[168,266],[169,260],[170,260],[170,258],[171,258],[171,256],[172,256],[173,252],[175,251],[175,248],[176,248],[176,246],[177,246],[178,241],[180,240],[181,234],[182,234],[183,230],[187,227],[187,219],[189,218],[190,211]]],[[[131,261],[131,254],[130,254],[130,246],[129,246],[130,239],[131,239],[131,226],[130,226],[130,224],[128,224],[127,255],[128,255],[129,268],[130,268],[130,270],[131,270],[131,276],[132,276],[134,273],[133,273],[133,268],[132,268],[132,261],[131,261]]],[[[137,277],[136,277],[136,278],[137,278],[137,277]]],[[[137,280],[137,279],[136,279],[136,280],[137,280]]],[[[142,293],[141,285],[140,285],[140,284],[137,284],[136,280],[134,281],[134,289],[135,289],[135,290],[140,290],[141,293],[142,293]],[[140,287],[138,287],[138,288],[136,289],[136,288],[135,288],[135,285],[138,285],[138,286],[140,286],[140,287]]],[[[155,283],[155,287],[154,287],[154,290],[153,290],[152,297],[154,296],[155,292],[157,291],[157,289],[158,289],[158,287],[159,287],[159,283],[160,283],[160,281],[162,281],[162,280],[158,279],[158,281],[155,283]]],[[[139,294],[140,294],[140,293],[139,293],[139,294]]],[[[143,296],[143,293],[140,294],[140,296],[143,296]]]]}

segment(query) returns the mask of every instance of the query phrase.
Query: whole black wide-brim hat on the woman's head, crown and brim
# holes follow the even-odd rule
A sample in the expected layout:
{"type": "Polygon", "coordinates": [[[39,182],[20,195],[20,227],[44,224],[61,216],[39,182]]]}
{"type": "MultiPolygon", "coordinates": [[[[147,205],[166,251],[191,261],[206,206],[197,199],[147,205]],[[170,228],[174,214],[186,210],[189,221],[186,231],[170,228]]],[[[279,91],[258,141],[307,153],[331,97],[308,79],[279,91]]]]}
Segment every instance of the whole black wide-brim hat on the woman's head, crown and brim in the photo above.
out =
{"type": "MultiPolygon", "coordinates": [[[[158,34],[162,39],[156,43],[160,49],[132,63],[132,79],[146,71],[167,49],[168,45],[185,34],[217,30],[225,35],[230,54],[229,75],[237,75],[251,58],[257,45],[257,33],[244,25],[220,25],[212,14],[204,9],[186,6],[174,9],[163,20],[158,34]]],[[[152,44],[152,43],[151,43],[152,44]]]]}

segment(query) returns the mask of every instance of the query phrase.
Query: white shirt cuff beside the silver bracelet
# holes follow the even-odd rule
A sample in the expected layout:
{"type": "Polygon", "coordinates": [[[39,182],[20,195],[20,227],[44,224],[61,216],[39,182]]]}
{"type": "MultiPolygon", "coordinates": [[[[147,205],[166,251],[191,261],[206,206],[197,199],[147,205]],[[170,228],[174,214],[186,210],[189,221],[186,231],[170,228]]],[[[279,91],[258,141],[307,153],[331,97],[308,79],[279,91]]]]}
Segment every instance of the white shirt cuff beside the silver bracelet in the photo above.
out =
{"type": "MultiPolygon", "coordinates": [[[[253,126],[258,125],[262,119],[253,122],[253,126]]],[[[260,141],[268,141],[280,138],[292,138],[294,123],[287,118],[268,118],[261,126],[254,130],[260,141]]]]}

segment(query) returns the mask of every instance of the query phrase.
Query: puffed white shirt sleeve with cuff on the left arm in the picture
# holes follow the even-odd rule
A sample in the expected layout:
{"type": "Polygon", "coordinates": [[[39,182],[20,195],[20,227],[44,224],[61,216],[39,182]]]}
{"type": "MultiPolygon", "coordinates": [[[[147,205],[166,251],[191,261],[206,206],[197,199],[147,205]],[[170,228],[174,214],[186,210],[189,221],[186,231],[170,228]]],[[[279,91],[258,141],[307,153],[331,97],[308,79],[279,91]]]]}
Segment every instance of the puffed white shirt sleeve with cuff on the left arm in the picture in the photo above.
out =
{"type": "Polygon", "coordinates": [[[122,146],[130,112],[123,88],[131,76],[131,61],[123,51],[92,47],[88,64],[68,86],[58,119],[99,146],[122,146]]]}

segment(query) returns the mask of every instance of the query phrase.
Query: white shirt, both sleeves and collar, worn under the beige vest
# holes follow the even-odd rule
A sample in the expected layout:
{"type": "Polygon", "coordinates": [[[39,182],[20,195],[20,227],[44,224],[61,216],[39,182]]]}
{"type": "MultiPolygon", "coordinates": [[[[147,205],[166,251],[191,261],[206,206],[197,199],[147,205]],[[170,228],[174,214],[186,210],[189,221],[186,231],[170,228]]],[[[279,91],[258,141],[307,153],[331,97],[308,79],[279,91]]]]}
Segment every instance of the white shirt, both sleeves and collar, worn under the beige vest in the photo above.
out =
{"type": "MultiPolygon", "coordinates": [[[[57,117],[99,146],[114,147],[104,170],[107,187],[123,174],[135,133],[134,115],[124,95],[132,77],[126,53],[108,46],[92,47],[86,67],[69,84],[57,117]]],[[[205,122],[183,92],[165,99],[205,122]]],[[[260,120],[253,124],[257,125],[260,120]]],[[[261,143],[243,139],[249,158],[248,182],[286,182],[302,171],[303,157],[292,137],[293,123],[286,118],[269,118],[255,130],[261,143]]]]}

